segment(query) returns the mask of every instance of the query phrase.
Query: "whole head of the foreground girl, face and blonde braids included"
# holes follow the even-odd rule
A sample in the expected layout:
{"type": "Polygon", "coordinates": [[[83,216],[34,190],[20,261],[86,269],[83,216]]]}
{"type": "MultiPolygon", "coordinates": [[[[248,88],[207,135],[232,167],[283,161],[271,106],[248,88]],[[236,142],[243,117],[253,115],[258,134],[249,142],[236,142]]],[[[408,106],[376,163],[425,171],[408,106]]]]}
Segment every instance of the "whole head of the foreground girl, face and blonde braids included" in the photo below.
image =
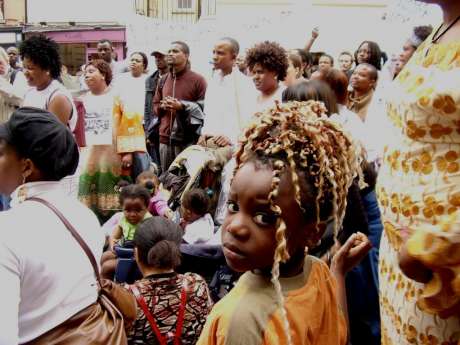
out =
{"type": "Polygon", "coordinates": [[[314,101],[277,105],[246,130],[223,226],[234,269],[303,257],[328,220],[341,223],[359,162],[351,139],[321,111],[314,101]]]}

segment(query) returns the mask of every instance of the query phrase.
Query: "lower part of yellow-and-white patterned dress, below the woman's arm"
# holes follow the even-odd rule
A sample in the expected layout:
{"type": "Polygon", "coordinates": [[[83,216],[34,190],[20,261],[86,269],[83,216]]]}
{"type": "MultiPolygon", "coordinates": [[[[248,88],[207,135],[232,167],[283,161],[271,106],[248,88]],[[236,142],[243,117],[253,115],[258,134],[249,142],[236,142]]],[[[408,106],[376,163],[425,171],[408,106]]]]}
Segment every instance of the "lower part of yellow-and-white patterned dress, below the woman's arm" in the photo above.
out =
{"type": "Polygon", "coordinates": [[[385,222],[380,244],[380,313],[382,345],[458,345],[460,318],[442,319],[416,304],[423,284],[407,278],[399,269],[400,236],[394,224],[385,222]]]}

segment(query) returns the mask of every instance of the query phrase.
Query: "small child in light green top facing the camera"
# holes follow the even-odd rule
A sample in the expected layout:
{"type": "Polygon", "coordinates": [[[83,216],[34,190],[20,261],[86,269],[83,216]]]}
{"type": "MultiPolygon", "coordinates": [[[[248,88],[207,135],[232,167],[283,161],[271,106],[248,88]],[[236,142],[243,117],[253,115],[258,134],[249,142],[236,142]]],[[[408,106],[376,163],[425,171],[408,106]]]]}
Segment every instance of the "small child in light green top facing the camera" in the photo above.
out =
{"type": "Polygon", "coordinates": [[[113,279],[117,267],[115,246],[133,247],[133,239],[138,225],[152,217],[147,208],[150,194],[147,189],[139,185],[128,185],[120,191],[120,204],[123,215],[109,238],[109,250],[101,258],[101,275],[106,279],[113,279]]]}

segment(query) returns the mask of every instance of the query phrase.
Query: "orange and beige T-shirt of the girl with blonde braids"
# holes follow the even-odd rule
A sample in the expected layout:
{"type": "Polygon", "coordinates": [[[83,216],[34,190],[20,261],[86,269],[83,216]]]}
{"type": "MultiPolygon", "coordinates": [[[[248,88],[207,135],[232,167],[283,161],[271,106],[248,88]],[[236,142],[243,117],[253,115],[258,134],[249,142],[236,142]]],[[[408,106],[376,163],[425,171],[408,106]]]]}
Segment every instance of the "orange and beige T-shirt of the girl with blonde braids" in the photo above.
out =
{"type": "MultiPolygon", "coordinates": [[[[307,256],[302,274],[280,278],[292,344],[342,345],[346,322],[327,266],[307,256]]],[[[268,277],[246,272],[215,305],[198,345],[287,344],[276,293],[268,277]]]]}

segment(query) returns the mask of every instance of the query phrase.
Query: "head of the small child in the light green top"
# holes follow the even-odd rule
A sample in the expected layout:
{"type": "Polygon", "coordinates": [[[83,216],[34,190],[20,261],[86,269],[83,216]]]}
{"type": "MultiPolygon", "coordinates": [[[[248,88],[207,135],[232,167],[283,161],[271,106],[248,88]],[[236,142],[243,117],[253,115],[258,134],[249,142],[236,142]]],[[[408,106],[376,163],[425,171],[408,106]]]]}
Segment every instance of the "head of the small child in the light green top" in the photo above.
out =
{"type": "Polygon", "coordinates": [[[120,191],[120,205],[129,223],[139,224],[145,216],[150,202],[149,191],[139,185],[130,184],[120,191]]]}

